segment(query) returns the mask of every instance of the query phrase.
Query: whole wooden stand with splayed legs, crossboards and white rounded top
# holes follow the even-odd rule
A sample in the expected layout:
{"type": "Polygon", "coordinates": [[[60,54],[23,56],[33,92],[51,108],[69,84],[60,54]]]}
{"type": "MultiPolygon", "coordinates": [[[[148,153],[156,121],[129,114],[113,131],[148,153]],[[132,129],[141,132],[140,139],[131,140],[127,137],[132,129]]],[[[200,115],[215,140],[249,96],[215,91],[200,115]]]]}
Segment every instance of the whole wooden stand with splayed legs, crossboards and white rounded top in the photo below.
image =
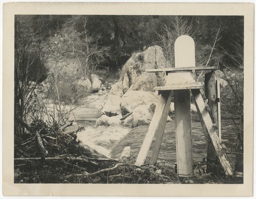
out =
{"type": "Polygon", "coordinates": [[[190,91],[195,98],[197,112],[203,127],[204,135],[214,145],[216,154],[226,175],[232,170],[225,153],[225,146],[217,135],[215,125],[205,107],[200,89],[202,85],[195,81],[193,73],[198,70],[217,70],[218,67],[195,67],[195,43],[187,35],[175,41],[175,68],[151,69],[147,72],[166,72],[165,86],[155,87],[161,94],[147,134],[139,151],[136,165],[143,165],[157,131],[151,163],[156,164],[170,103],[174,96],[177,170],[180,176],[193,176],[193,151],[191,135],[190,91]]]}

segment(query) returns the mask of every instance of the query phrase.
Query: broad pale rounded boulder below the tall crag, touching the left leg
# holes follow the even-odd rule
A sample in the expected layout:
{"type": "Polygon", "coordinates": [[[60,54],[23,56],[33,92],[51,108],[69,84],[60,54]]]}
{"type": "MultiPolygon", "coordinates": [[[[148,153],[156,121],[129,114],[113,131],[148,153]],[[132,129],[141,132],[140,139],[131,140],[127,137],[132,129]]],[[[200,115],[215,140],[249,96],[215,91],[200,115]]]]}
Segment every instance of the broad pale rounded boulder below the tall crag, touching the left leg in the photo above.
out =
{"type": "Polygon", "coordinates": [[[121,114],[124,116],[131,113],[134,108],[139,105],[151,105],[152,103],[157,104],[159,96],[153,92],[146,91],[127,91],[122,96],[120,104],[121,114]]]}

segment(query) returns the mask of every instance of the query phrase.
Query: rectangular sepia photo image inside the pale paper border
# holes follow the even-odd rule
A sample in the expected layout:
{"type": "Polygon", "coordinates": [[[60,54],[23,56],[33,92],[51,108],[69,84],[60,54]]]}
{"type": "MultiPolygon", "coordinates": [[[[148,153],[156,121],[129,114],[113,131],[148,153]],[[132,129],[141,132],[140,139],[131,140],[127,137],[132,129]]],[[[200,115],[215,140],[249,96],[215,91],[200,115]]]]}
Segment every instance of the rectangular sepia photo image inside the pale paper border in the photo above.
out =
{"type": "Polygon", "coordinates": [[[14,184],[243,185],[244,32],[243,15],[15,14],[14,184]]]}

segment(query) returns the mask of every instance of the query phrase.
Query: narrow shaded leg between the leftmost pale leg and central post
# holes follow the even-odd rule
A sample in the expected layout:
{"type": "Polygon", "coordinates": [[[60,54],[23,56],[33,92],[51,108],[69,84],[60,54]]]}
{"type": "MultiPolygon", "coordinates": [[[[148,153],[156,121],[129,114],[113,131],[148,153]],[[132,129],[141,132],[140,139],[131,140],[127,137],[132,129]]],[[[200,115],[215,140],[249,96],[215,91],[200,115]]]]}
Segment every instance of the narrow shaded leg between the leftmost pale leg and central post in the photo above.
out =
{"type": "Polygon", "coordinates": [[[170,109],[170,103],[172,102],[172,98],[173,98],[173,92],[170,93],[170,96],[163,109],[162,117],[158,125],[156,142],[155,142],[155,146],[154,146],[152,158],[151,158],[151,164],[153,165],[157,163],[157,158],[158,158],[159,150],[160,150],[162,139],[163,139],[164,128],[165,128],[167,116],[170,109]]]}

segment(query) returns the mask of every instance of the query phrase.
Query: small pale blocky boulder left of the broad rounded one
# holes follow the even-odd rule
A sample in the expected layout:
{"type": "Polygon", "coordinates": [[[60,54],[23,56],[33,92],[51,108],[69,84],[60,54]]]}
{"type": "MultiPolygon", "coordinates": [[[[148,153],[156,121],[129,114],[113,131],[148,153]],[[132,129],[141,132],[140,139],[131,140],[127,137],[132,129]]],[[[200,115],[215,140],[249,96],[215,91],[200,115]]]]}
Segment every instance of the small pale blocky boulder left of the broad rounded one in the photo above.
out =
{"type": "Polygon", "coordinates": [[[121,114],[120,103],[122,98],[117,95],[109,95],[105,105],[101,109],[101,114],[106,116],[116,116],[121,114]]]}

